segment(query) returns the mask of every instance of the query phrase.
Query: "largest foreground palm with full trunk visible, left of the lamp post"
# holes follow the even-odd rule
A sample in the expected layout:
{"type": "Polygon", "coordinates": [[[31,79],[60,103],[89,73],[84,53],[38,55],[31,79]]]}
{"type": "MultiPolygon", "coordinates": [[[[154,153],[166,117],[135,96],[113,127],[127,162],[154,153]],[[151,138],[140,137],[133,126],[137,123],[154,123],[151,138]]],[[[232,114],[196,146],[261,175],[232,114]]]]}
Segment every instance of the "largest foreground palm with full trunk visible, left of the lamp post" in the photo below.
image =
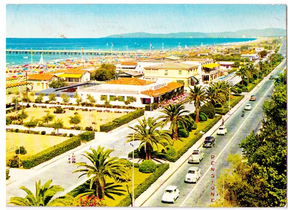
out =
{"type": "Polygon", "coordinates": [[[94,186],[96,190],[96,196],[99,199],[107,196],[105,194],[106,177],[112,178],[114,181],[119,182],[120,180],[128,180],[128,170],[125,167],[125,163],[120,161],[117,157],[109,157],[113,150],[104,150],[104,147],[98,146],[97,150],[90,148],[92,153],[85,151],[86,154],[82,154],[90,160],[92,164],[86,162],[74,163],[79,167],[84,167],[84,169],[77,169],[73,171],[82,172],[79,176],[82,177],[87,175],[90,179],[90,189],[94,186]],[[94,185],[93,185],[94,184],[94,185]]]}

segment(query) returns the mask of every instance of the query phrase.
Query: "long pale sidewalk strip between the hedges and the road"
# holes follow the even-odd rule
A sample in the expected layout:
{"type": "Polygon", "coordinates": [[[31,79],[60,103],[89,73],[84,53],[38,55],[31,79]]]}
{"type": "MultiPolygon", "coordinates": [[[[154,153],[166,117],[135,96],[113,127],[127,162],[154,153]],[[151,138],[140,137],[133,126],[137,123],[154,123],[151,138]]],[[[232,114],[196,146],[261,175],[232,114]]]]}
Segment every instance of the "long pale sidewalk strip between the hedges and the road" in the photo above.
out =
{"type": "MultiPolygon", "coordinates": [[[[277,68],[277,67],[276,67],[277,68]]],[[[274,68],[274,70],[276,69],[274,68]]],[[[234,106],[230,110],[230,115],[227,113],[222,118],[224,121],[226,121],[230,116],[243,104],[247,99],[249,99],[250,95],[254,93],[264,82],[266,82],[269,78],[269,76],[274,72],[271,71],[269,75],[267,75],[260,83],[257,85],[254,89],[252,89],[250,92],[244,93],[244,98],[242,98],[239,103],[234,106]]],[[[153,194],[156,192],[190,157],[191,152],[193,150],[199,149],[207,136],[211,136],[221,125],[222,120],[220,119],[209,131],[207,131],[201,139],[199,139],[188,151],[186,151],[175,163],[169,163],[170,168],[160,177],[158,180],[156,180],[151,186],[145,190],[136,200],[135,200],[135,206],[141,207],[153,194]]]]}

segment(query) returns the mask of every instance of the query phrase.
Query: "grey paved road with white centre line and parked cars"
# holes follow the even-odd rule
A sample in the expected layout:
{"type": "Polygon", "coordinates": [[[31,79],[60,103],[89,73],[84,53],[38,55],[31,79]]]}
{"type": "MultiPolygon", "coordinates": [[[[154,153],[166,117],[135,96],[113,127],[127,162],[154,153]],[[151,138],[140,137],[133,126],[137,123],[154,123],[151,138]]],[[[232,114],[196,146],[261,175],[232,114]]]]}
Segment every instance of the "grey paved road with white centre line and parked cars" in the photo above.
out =
{"type": "MultiPolygon", "coordinates": [[[[285,67],[286,62],[282,63],[281,67],[285,67]]],[[[277,75],[281,70],[275,70],[273,75],[277,75]]],[[[213,148],[200,148],[205,157],[200,164],[193,164],[201,169],[202,178],[198,180],[198,183],[188,184],[184,183],[186,172],[191,164],[184,163],[178,171],[171,176],[152,196],[144,203],[144,207],[208,207],[211,204],[211,198],[217,198],[211,196],[212,180],[215,182],[219,177],[220,170],[222,169],[222,159],[224,157],[224,167],[228,167],[226,162],[228,154],[241,154],[241,149],[238,147],[239,143],[246,135],[250,134],[252,130],[258,130],[261,125],[262,104],[265,100],[269,99],[273,92],[274,80],[267,80],[262,86],[259,87],[253,94],[256,95],[257,100],[251,102],[245,102],[228,120],[225,125],[228,133],[225,136],[217,136],[216,133],[213,136],[216,138],[216,145],[213,148]],[[252,104],[252,110],[245,112],[245,117],[241,117],[241,112],[247,103],[252,104]],[[216,178],[212,178],[211,172],[211,155],[215,155],[213,160],[215,163],[216,178]],[[176,200],[175,204],[163,204],[161,198],[164,189],[168,185],[177,185],[180,189],[180,197],[176,200]]]]}

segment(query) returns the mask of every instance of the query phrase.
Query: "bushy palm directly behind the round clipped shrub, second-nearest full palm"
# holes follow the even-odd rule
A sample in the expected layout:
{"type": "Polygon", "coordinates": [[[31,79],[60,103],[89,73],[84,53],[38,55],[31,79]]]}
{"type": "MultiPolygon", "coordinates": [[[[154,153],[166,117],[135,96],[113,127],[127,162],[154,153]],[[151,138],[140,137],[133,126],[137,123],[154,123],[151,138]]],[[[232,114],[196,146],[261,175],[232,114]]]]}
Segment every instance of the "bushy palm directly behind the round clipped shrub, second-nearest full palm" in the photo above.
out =
{"type": "Polygon", "coordinates": [[[158,145],[161,145],[164,150],[167,152],[164,143],[172,144],[171,141],[171,132],[169,130],[162,130],[163,123],[156,122],[154,118],[146,119],[144,117],[143,120],[138,120],[140,125],[135,125],[135,127],[130,127],[134,130],[134,138],[133,133],[128,134],[128,140],[126,142],[132,141],[140,141],[140,147],[144,146],[146,152],[146,160],[151,159],[151,153],[153,152],[153,146],[158,149],[158,145]],[[159,130],[158,130],[159,128],[159,130]]]}

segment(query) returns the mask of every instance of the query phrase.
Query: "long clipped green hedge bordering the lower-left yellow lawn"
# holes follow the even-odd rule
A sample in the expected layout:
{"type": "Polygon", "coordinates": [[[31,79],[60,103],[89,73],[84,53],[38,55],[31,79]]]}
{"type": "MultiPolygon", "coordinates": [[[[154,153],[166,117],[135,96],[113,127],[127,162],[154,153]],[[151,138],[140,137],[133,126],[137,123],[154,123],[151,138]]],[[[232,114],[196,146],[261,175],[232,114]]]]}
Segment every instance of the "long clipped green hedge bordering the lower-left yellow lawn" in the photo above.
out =
{"type": "Polygon", "coordinates": [[[63,154],[66,151],[72,150],[81,145],[81,138],[79,136],[73,136],[72,138],[55,145],[53,147],[47,148],[35,155],[28,158],[22,159],[22,165],[25,169],[33,168],[47,160],[63,154]]]}

